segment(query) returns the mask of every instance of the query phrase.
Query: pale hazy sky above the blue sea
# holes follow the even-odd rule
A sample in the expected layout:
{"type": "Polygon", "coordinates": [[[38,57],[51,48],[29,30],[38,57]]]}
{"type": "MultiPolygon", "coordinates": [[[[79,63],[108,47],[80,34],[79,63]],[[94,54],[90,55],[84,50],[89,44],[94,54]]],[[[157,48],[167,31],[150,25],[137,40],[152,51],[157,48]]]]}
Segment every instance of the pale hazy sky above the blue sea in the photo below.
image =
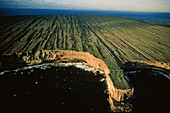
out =
{"type": "Polygon", "coordinates": [[[170,12],[170,0],[0,0],[0,8],[170,12]]]}

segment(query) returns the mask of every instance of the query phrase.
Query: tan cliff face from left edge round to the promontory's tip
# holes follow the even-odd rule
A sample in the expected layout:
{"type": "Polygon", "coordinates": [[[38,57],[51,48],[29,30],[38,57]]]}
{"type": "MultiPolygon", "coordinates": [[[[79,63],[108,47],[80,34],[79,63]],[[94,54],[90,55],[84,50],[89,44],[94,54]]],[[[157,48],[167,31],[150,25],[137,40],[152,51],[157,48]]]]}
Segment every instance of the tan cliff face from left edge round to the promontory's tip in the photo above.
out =
{"type": "Polygon", "coordinates": [[[38,65],[42,63],[69,63],[84,62],[90,67],[101,71],[106,76],[109,92],[109,102],[111,111],[131,111],[130,108],[124,109],[115,102],[123,102],[133,95],[134,89],[117,89],[112,82],[107,65],[101,59],[95,58],[88,52],[76,52],[70,50],[40,50],[29,51],[24,53],[15,53],[12,55],[4,55],[1,57],[1,69],[15,69],[23,66],[38,65]]]}

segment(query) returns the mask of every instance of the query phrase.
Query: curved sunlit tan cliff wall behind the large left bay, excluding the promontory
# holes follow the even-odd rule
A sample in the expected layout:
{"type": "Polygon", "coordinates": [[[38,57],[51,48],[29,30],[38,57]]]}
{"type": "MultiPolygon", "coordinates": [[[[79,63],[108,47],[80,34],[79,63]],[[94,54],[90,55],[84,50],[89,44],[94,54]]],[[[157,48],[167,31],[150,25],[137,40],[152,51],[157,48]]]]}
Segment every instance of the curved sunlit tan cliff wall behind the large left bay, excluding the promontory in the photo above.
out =
{"type": "Polygon", "coordinates": [[[105,74],[110,73],[107,65],[101,59],[95,58],[88,52],[70,50],[40,50],[5,55],[1,58],[1,70],[49,62],[86,62],[96,70],[102,71],[105,74]]]}

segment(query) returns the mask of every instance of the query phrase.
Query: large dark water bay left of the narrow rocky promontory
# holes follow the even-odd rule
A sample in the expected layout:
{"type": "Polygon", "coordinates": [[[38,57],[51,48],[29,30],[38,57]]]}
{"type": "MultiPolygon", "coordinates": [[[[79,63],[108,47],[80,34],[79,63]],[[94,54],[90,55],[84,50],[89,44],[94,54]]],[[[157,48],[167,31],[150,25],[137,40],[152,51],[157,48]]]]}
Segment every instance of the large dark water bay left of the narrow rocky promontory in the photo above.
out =
{"type": "Polygon", "coordinates": [[[42,64],[1,72],[0,112],[108,112],[105,80],[99,71],[75,66],[42,64]]]}

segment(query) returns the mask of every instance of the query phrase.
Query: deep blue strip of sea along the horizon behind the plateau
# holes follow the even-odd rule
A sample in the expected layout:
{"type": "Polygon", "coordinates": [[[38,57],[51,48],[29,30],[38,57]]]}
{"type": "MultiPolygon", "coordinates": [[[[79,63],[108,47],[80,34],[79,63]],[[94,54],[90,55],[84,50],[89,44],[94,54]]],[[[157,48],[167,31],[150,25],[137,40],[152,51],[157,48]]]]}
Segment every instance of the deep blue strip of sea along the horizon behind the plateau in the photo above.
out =
{"type": "Polygon", "coordinates": [[[106,10],[65,10],[65,9],[14,9],[0,8],[0,16],[15,15],[51,15],[51,14],[71,14],[71,15],[110,15],[118,17],[137,17],[152,19],[170,19],[170,13],[160,12],[131,12],[131,11],[106,11],[106,10]]]}

